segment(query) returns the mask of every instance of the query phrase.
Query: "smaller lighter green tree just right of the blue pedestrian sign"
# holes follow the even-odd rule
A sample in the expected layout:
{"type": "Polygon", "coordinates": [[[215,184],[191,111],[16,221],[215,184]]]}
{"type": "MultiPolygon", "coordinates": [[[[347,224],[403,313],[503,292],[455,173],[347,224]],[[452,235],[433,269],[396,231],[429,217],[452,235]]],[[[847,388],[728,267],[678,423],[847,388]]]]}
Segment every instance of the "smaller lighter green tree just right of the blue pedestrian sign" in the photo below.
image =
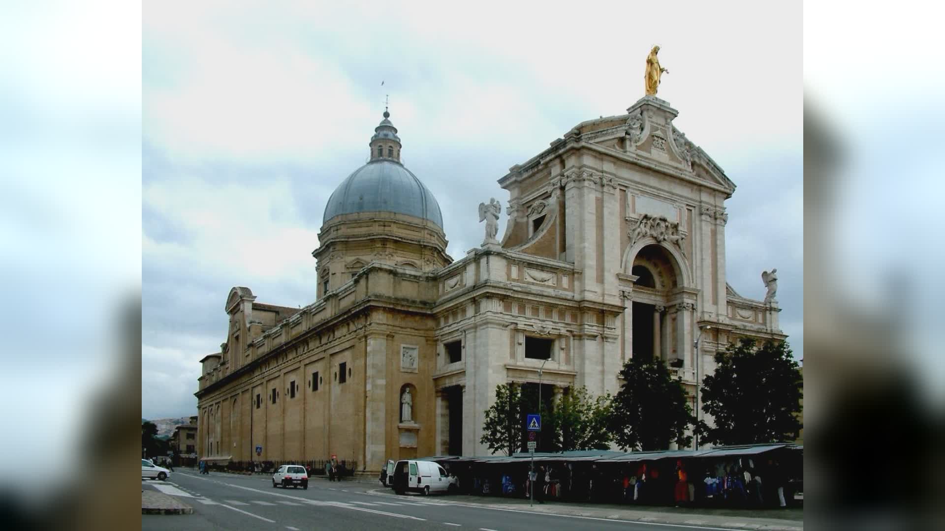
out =
{"type": "Polygon", "coordinates": [[[573,387],[561,395],[550,415],[556,445],[565,451],[610,448],[611,400],[610,394],[592,399],[586,387],[573,387]]]}

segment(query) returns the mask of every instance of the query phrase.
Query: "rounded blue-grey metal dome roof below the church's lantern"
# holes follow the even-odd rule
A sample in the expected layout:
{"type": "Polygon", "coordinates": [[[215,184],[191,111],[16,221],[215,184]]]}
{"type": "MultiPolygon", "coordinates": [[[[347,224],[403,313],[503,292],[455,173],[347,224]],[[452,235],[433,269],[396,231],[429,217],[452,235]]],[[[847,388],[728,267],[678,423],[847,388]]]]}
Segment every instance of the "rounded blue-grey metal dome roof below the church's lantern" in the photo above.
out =
{"type": "Polygon", "coordinates": [[[362,212],[413,215],[443,228],[437,199],[404,164],[390,159],[371,161],[339,184],[328,198],[322,223],[335,215],[362,212]]]}

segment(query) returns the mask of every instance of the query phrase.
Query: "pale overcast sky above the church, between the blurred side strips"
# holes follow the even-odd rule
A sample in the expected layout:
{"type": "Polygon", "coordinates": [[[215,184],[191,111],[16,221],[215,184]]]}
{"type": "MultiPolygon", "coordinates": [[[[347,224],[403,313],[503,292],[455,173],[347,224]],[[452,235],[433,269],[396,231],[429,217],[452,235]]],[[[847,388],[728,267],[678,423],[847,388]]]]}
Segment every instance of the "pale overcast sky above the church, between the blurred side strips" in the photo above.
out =
{"type": "Polygon", "coordinates": [[[365,163],[386,94],[458,259],[481,242],[479,201],[507,204],[509,166],[644,94],[653,44],[674,124],[738,186],[728,281],[763,299],[761,272],[778,268],[800,358],[801,7],[706,4],[146,2],[142,416],[197,414],[198,360],[226,340],[232,286],[316,299],[325,202],[365,163]]]}

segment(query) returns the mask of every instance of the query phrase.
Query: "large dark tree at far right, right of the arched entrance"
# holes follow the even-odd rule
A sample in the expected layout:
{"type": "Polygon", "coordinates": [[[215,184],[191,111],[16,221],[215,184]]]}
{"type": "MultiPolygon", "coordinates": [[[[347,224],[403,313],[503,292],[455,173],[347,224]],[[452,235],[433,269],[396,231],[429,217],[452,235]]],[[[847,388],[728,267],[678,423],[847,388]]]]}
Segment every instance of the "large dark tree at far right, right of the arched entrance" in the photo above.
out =
{"type": "Polygon", "coordinates": [[[702,381],[702,410],[714,427],[700,423],[715,444],[750,444],[793,440],[802,424],[803,379],[785,341],[743,338],[715,353],[715,372],[702,381]]]}

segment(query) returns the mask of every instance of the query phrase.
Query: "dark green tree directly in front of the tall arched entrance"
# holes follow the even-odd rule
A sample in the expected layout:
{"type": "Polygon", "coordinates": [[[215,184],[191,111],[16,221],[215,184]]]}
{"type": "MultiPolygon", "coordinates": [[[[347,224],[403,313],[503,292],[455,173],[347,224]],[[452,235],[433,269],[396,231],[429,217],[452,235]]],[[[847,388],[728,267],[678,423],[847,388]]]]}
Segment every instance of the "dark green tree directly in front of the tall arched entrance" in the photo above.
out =
{"type": "Polygon", "coordinates": [[[624,385],[613,397],[608,424],[617,446],[624,450],[665,450],[676,441],[689,446],[686,435],[695,425],[692,408],[679,380],[662,360],[637,356],[620,371],[624,385]]]}

